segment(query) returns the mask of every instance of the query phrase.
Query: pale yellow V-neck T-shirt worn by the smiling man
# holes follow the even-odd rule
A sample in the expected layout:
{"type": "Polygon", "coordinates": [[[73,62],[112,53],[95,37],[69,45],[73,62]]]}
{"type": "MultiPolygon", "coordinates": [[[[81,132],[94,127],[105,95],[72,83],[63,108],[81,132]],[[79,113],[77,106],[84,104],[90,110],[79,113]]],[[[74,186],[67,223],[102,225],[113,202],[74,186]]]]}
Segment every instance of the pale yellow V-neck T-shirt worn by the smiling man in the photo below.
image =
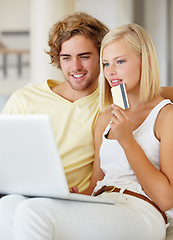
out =
{"type": "Polygon", "coordinates": [[[94,160],[93,132],[98,117],[99,90],[73,103],[55,94],[47,80],[12,94],[1,114],[48,114],[69,184],[83,191],[90,182],[94,160]]]}

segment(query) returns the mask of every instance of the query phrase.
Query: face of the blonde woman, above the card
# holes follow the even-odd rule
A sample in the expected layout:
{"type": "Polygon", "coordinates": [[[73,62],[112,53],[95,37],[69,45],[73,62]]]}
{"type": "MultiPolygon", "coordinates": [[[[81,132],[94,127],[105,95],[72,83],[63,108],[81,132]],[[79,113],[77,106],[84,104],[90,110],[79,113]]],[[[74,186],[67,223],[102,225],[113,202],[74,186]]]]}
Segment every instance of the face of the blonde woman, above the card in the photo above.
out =
{"type": "Polygon", "coordinates": [[[127,92],[139,91],[141,57],[121,39],[115,40],[104,48],[102,63],[104,76],[111,87],[124,83],[127,92]]]}

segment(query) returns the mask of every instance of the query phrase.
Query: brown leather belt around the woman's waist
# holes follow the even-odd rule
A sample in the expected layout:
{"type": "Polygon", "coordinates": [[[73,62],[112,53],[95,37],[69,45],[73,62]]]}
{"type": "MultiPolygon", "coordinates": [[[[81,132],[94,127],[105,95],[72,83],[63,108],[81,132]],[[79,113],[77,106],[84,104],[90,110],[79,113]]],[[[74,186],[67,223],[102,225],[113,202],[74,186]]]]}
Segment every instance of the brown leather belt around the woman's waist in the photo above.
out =
{"type": "MultiPolygon", "coordinates": [[[[103,192],[120,192],[120,190],[121,190],[121,188],[116,188],[114,186],[103,186],[97,192],[95,192],[93,195],[94,196],[98,196],[99,194],[101,194],[103,192]]],[[[123,193],[127,194],[127,195],[130,195],[130,196],[134,196],[134,197],[140,198],[140,199],[150,203],[151,205],[153,205],[161,213],[162,217],[165,220],[165,223],[166,224],[168,223],[166,214],[154,202],[152,202],[149,198],[145,197],[142,194],[139,194],[139,193],[136,193],[136,192],[132,192],[132,191],[127,190],[127,189],[125,189],[123,193]]]]}

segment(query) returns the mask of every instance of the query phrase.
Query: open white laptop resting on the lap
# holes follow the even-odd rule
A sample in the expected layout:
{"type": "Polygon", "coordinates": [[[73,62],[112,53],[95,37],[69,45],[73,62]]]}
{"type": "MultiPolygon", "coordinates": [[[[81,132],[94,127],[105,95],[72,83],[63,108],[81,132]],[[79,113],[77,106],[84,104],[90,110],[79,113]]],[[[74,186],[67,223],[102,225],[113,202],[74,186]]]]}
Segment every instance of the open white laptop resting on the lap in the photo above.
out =
{"type": "Polygon", "coordinates": [[[115,203],[70,193],[46,114],[0,115],[0,194],[115,203]]]}

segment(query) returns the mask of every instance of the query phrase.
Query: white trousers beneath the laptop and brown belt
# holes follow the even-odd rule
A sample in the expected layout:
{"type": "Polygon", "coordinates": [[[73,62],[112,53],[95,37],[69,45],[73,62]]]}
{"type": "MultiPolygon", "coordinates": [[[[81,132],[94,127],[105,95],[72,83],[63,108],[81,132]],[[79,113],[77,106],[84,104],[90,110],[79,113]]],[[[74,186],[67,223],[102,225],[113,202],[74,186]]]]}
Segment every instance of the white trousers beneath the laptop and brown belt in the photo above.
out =
{"type": "Polygon", "coordinates": [[[9,195],[0,199],[1,240],[164,240],[166,225],[149,203],[103,193],[115,205],[9,195]]]}

